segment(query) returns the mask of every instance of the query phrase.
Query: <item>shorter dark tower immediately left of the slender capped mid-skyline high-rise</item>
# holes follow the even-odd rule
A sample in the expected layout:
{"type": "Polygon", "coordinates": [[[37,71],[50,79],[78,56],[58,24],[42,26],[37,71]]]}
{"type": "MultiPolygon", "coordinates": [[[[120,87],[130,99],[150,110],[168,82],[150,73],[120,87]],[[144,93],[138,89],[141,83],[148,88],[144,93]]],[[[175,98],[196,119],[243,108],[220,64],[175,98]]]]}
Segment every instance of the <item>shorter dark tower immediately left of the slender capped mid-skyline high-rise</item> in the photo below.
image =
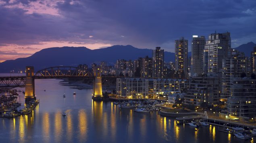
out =
{"type": "Polygon", "coordinates": [[[141,77],[152,77],[152,58],[142,58],[141,77]]]}

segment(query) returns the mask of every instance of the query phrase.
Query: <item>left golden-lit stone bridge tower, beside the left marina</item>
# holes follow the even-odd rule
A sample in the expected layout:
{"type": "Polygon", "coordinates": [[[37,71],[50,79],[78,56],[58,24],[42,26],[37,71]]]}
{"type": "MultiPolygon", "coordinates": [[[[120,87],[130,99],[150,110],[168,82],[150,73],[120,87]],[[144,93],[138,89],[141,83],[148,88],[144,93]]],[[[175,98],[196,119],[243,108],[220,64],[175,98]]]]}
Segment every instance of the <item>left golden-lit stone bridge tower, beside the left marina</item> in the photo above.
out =
{"type": "Polygon", "coordinates": [[[26,66],[25,102],[35,99],[34,67],[26,66]]]}

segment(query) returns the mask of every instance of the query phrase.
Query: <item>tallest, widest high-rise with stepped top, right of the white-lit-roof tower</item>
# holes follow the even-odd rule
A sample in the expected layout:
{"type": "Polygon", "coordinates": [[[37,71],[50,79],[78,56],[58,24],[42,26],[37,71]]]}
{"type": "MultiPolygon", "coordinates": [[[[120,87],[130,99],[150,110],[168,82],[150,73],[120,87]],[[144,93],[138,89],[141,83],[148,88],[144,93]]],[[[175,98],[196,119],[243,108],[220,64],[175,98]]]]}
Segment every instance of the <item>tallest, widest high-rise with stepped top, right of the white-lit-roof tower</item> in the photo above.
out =
{"type": "Polygon", "coordinates": [[[208,50],[208,73],[221,72],[222,59],[227,58],[230,48],[231,37],[229,32],[215,32],[209,35],[205,45],[205,50],[208,50]]]}

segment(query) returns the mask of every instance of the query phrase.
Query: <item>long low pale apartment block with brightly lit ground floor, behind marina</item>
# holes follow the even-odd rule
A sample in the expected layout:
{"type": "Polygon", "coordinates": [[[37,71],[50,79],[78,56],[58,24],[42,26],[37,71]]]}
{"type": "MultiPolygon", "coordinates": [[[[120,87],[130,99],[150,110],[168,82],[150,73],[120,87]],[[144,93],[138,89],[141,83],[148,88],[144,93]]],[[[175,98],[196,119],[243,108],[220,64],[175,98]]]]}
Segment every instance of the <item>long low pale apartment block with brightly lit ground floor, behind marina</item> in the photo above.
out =
{"type": "Polygon", "coordinates": [[[187,80],[181,79],[121,78],[117,79],[117,96],[129,98],[159,97],[169,93],[185,92],[187,87],[187,80]]]}

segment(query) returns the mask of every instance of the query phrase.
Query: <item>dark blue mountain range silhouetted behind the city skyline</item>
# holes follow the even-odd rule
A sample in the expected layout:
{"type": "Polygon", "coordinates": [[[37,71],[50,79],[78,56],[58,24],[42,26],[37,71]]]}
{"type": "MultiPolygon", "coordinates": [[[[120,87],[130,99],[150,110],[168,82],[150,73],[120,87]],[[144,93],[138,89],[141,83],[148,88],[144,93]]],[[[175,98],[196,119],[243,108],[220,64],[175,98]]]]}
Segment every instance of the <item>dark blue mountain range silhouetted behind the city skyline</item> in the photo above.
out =
{"type": "MultiPolygon", "coordinates": [[[[238,46],[237,50],[250,56],[256,44],[249,42],[238,46]]],[[[0,73],[9,73],[10,70],[21,71],[25,66],[34,66],[35,71],[51,66],[77,66],[78,64],[91,65],[105,61],[114,64],[117,59],[135,60],[139,57],[152,57],[151,49],[135,48],[131,45],[114,45],[107,48],[91,50],[86,47],[54,47],[46,48],[36,52],[27,58],[17,58],[16,60],[6,60],[0,63],[0,73]]],[[[191,52],[188,53],[191,56],[191,52]]],[[[164,52],[164,61],[174,61],[175,54],[164,52]]]]}

